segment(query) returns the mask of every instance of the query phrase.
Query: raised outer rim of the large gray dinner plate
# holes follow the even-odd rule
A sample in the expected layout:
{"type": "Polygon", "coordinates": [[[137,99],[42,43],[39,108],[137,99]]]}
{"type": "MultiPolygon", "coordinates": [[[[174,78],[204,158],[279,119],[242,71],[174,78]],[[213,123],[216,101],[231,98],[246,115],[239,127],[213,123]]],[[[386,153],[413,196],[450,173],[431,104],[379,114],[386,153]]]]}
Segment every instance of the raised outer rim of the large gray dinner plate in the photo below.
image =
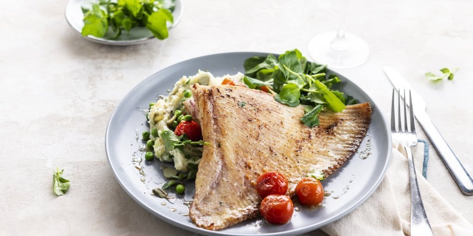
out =
{"type": "MultiPolygon", "coordinates": [[[[180,61],[180,62],[177,62],[177,63],[174,63],[172,65],[169,65],[163,69],[160,69],[159,71],[151,74],[150,76],[148,76],[146,79],[142,80],[140,83],[138,83],[133,89],[131,89],[121,100],[120,102],[116,105],[115,109],[113,110],[112,114],[110,115],[110,118],[108,120],[108,123],[107,123],[107,127],[106,127],[106,131],[105,131],[105,153],[106,153],[106,156],[107,156],[107,161],[108,161],[108,164],[110,165],[110,168],[112,169],[112,172],[113,172],[113,176],[117,179],[118,183],[120,184],[120,186],[122,187],[123,190],[125,190],[125,192],[130,196],[132,197],[132,199],[135,200],[136,203],[138,203],[138,205],[140,205],[141,207],[145,208],[148,212],[152,213],[153,215],[157,216],[160,220],[163,220],[165,221],[166,223],[169,223],[173,226],[176,226],[178,228],[181,228],[181,229],[184,229],[184,230],[187,230],[187,231],[191,231],[191,232],[194,232],[194,233],[199,233],[199,234],[203,234],[203,235],[212,235],[212,236],[234,236],[236,234],[234,233],[227,233],[227,232],[223,232],[223,231],[211,231],[211,230],[206,230],[206,229],[203,229],[203,228],[200,228],[200,227],[191,227],[189,225],[186,225],[184,223],[181,223],[179,221],[174,221],[172,220],[171,218],[169,218],[168,216],[164,215],[164,214],[161,214],[160,212],[157,212],[157,211],[154,211],[152,207],[146,205],[145,203],[141,202],[139,200],[139,198],[137,196],[135,196],[132,192],[130,192],[128,190],[128,188],[126,188],[124,185],[123,185],[123,182],[121,180],[121,178],[119,176],[117,176],[117,172],[114,168],[114,166],[112,165],[112,162],[111,162],[111,157],[109,155],[109,146],[110,144],[108,143],[108,140],[109,140],[109,132],[110,132],[110,123],[112,122],[112,120],[114,119],[117,113],[117,110],[118,108],[122,105],[122,103],[129,97],[131,96],[131,94],[135,91],[135,89],[137,89],[142,83],[145,83],[147,80],[150,80],[152,77],[154,77],[155,74],[157,73],[161,73],[162,71],[165,71],[165,70],[168,70],[169,68],[173,67],[173,66],[176,66],[178,64],[183,64],[183,63],[186,63],[188,61],[191,61],[191,60],[195,60],[195,59],[203,59],[203,58],[206,58],[206,57],[212,57],[212,56],[219,56],[219,55],[232,55],[232,54],[252,54],[254,56],[257,56],[257,55],[261,55],[261,54],[266,54],[266,55],[269,55],[269,54],[273,54],[273,55],[279,55],[279,54],[275,54],[275,53],[266,53],[266,52],[250,52],[250,51],[245,51],[245,52],[226,52],[226,53],[216,53],[216,54],[209,54],[209,55],[203,55],[203,56],[199,56],[199,57],[195,57],[195,58],[191,58],[191,59],[186,59],[186,60],[183,60],[183,61],[180,61]]],[[[342,75],[340,73],[338,73],[337,71],[333,70],[330,68],[330,66],[328,66],[328,68],[330,70],[332,70],[333,72],[339,74],[339,75],[342,75]]],[[[343,75],[342,75],[343,76],[343,75]]],[[[273,233],[263,233],[263,234],[254,234],[254,235],[258,235],[258,236],[279,236],[279,235],[284,235],[284,236],[287,236],[287,235],[297,235],[297,234],[304,234],[304,233],[307,233],[307,232],[310,232],[310,231],[314,231],[314,230],[317,230],[317,229],[320,229],[321,227],[327,225],[327,224],[330,224],[338,219],[341,219],[343,218],[345,215],[351,213],[354,209],[356,209],[357,207],[359,207],[361,204],[363,204],[364,202],[366,202],[366,200],[368,200],[368,198],[370,196],[372,196],[372,194],[374,193],[374,191],[379,187],[379,185],[381,184],[381,181],[384,179],[384,177],[386,176],[386,172],[387,172],[387,169],[389,167],[389,163],[391,161],[391,158],[392,158],[392,137],[390,135],[390,129],[389,129],[389,125],[388,125],[388,122],[387,122],[387,119],[386,117],[384,116],[384,114],[382,113],[381,109],[379,109],[380,107],[378,106],[378,104],[372,99],[372,97],[370,95],[368,95],[365,90],[361,89],[357,84],[355,84],[353,81],[351,81],[350,79],[348,79],[347,77],[343,76],[347,81],[349,81],[356,89],[359,89],[360,91],[362,91],[367,97],[369,97],[371,100],[372,100],[372,108],[377,108],[378,109],[378,112],[379,114],[381,115],[381,121],[382,123],[384,124],[384,128],[385,128],[385,132],[387,134],[387,137],[388,137],[388,148],[387,148],[387,153],[386,154],[386,161],[384,163],[384,166],[383,166],[383,169],[381,170],[381,175],[379,175],[379,177],[377,177],[376,181],[375,181],[375,184],[372,185],[372,187],[365,192],[364,195],[362,195],[361,198],[359,198],[356,203],[354,205],[352,205],[351,207],[347,208],[345,211],[343,211],[342,213],[338,214],[338,215],[335,215],[333,216],[332,218],[329,218],[327,220],[324,220],[324,221],[319,221],[317,222],[316,224],[312,224],[312,225],[309,225],[309,226],[306,226],[306,227],[303,227],[303,228],[298,228],[298,229],[293,229],[293,230],[289,230],[289,231],[282,231],[282,232],[273,232],[273,233]],[[373,106],[374,105],[374,106],[373,106]]],[[[247,236],[250,236],[250,235],[253,235],[253,234],[248,234],[247,236]]]]}

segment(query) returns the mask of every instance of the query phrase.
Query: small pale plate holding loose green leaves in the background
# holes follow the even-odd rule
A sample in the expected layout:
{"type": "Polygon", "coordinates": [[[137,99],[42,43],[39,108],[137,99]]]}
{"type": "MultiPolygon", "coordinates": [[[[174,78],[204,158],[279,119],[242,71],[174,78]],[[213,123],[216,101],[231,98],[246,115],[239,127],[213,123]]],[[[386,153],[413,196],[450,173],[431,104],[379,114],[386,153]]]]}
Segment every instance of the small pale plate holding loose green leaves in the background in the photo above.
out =
{"type": "MultiPolygon", "coordinates": [[[[82,27],[84,27],[84,13],[82,13],[81,6],[88,5],[90,2],[97,2],[98,0],[69,0],[68,5],[66,6],[66,20],[68,21],[70,27],[74,29],[79,35],[82,37],[81,31],[82,27]]],[[[182,3],[180,0],[176,0],[176,6],[174,11],[172,12],[172,16],[174,18],[174,23],[171,25],[169,24],[169,29],[175,27],[177,23],[182,18],[182,3]]],[[[168,22],[169,23],[169,22],[168,22]]],[[[169,32],[171,33],[171,32],[169,32]]],[[[134,45],[139,43],[144,43],[149,40],[154,39],[153,34],[146,29],[145,27],[135,27],[130,30],[130,33],[122,32],[122,34],[115,39],[112,39],[113,33],[109,30],[103,38],[98,38],[94,36],[87,36],[83,37],[94,41],[96,43],[101,44],[108,44],[108,45],[118,45],[118,46],[126,46],[126,45],[134,45]]]]}

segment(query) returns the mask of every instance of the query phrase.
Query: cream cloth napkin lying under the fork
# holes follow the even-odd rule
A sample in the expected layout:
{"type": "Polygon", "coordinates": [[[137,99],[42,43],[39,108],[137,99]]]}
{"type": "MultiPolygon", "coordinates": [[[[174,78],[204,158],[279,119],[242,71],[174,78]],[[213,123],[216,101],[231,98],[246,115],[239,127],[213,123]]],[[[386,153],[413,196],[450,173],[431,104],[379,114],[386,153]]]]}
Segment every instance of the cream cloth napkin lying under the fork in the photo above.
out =
{"type": "MultiPolygon", "coordinates": [[[[410,236],[410,187],[405,150],[393,145],[391,163],[373,195],[353,212],[322,228],[330,236],[410,236]]],[[[463,218],[422,176],[424,144],[413,148],[422,201],[435,236],[472,236],[463,218]]],[[[473,207],[473,206],[470,206],[473,207]]]]}

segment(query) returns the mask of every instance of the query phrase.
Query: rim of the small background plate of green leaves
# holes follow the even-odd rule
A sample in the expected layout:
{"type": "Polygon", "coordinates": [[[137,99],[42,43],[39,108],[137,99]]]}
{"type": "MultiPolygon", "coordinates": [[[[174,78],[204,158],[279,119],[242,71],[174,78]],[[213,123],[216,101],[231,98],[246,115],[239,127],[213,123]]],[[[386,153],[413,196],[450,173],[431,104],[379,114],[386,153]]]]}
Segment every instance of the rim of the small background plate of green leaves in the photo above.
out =
{"type": "MultiPolygon", "coordinates": [[[[105,38],[98,38],[98,37],[91,36],[91,35],[87,35],[86,37],[84,37],[84,36],[82,36],[82,33],[80,31],[78,31],[77,29],[75,29],[72,26],[72,24],[69,22],[68,8],[69,8],[69,5],[71,4],[72,1],[74,1],[74,0],[68,0],[68,3],[66,4],[66,8],[64,9],[64,18],[66,18],[66,22],[68,22],[68,25],[70,26],[70,28],[72,28],[75,32],[77,32],[82,38],[85,38],[85,39],[90,40],[92,42],[105,44],[105,45],[114,45],[114,46],[136,45],[136,44],[141,44],[141,43],[147,42],[147,41],[152,40],[153,38],[155,38],[154,36],[149,36],[149,37],[146,37],[146,38],[117,41],[117,40],[110,40],[110,39],[105,39],[105,38]]],[[[183,5],[181,0],[176,0],[176,6],[177,5],[179,5],[179,9],[180,9],[180,14],[177,15],[179,17],[174,21],[174,23],[172,23],[172,25],[170,27],[168,27],[168,30],[176,27],[177,24],[179,24],[179,22],[182,20],[182,14],[184,13],[184,5],[183,5]]],[[[174,12],[172,12],[172,13],[174,13],[174,12]]],[[[172,16],[175,16],[175,15],[172,14],[172,16]]],[[[164,40],[166,40],[166,39],[164,39],[164,40]]]]}

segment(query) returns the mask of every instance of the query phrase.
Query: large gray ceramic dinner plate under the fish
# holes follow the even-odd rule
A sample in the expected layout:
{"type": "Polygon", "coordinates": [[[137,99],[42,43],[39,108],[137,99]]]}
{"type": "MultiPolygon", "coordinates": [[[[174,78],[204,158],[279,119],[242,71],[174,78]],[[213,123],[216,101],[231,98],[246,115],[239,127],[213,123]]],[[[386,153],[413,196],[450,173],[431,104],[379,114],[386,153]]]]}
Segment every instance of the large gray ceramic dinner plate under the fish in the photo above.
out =
{"type": "MultiPolygon", "coordinates": [[[[324,206],[308,209],[297,206],[292,220],[285,225],[270,225],[261,217],[241,222],[221,231],[198,228],[185,215],[188,207],[185,201],[192,201],[194,183],[186,184],[183,196],[170,203],[153,196],[152,189],[165,182],[165,164],[154,160],[144,161],[141,132],[148,130],[141,108],[147,108],[156,96],[165,94],[183,75],[195,75],[198,69],[208,70],[215,76],[244,72],[243,61],[251,56],[267,56],[267,53],[223,53],[189,59],[163,69],[132,89],[120,102],[108,123],[105,149],[110,166],[123,189],[142,207],[160,219],[177,227],[203,235],[297,235],[320,228],[333,222],[362,204],[381,182],[391,157],[391,135],[388,125],[378,106],[359,87],[347,78],[338,75],[342,83],[338,89],[353,95],[360,102],[371,102],[372,122],[369,135],[358,152],[330,178],[323,181],[324,189],[331,192],[324,206]],[[371,141],[368,141],[371,139],[371,141]],[[367,145],[369,144],[369,145],[367,145]],[[368,146],[368,147],[367,147],[368,146]],[[369,148],[371,146],[371,148],[369,148]],[[371,152],[364,155],[362,151],[371,152]],[[362,157],[366,157],[362,159],[362,157]],[[132,160],[143,159],[140,166],[143,173],[134,167],[132,160]]],[[[336,73],[329,71],[329,73],[336,73]]],[[[171,191],[172,196],[176,196],[171,191]]]]}

